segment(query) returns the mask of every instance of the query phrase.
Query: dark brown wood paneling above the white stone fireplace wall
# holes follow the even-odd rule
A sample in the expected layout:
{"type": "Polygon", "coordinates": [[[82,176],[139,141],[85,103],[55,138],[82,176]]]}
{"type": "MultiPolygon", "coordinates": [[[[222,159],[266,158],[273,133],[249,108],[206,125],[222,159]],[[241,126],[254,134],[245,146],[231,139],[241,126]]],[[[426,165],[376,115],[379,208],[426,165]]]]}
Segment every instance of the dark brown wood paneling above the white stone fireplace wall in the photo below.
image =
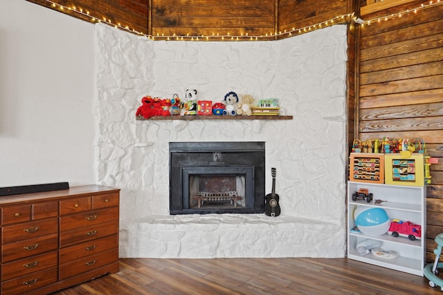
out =
{"type": "MultiPolygon", "coordinates": [[[[246,36],[281,39],[289,37],[289,34],[284,35],[285,31],[318,23],[322,23],[323,27],[332,25],[325,21],[346,15],[349,0],[27,1],[87,21],[106,21],[143,35],[159,38],[209,36],[211,39],[229,41],[234,39],[233,36],[242,36],[240,40],[248,40],[246,36]]],[[[346,21],[346,18],[338,18],[335,23],[346,21]]]]}

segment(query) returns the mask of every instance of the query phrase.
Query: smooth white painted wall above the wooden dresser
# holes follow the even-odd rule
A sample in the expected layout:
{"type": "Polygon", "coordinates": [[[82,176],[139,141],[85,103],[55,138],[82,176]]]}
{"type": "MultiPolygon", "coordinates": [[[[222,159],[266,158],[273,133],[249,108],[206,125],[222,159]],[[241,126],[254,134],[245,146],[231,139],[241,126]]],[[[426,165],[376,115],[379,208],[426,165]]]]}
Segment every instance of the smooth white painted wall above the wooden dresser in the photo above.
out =
{"type": "Polygon", "coordinates": [[[93,28],[0,0],[0,187],[96,183],[93,28]]]}

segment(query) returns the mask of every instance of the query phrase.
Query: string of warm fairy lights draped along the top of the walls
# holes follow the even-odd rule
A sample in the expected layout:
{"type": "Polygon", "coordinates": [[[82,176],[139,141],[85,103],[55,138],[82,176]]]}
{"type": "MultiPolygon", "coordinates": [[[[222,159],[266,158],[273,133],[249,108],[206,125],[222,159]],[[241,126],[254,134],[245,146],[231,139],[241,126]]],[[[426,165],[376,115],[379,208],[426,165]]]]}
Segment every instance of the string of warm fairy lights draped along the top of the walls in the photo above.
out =
{"type": "Polygon", "coordinates": [[[123,26],[118,22],[113,23],[111,21],[111,19],[109,19],[105,16],[98,17],[96,15],[91,15],[89,10],[85,10],[85,9],[75,6],[75,5],[65,6],[60,3],[56,3],[55,1],[52,1],[52,0],[44,0],[44,1],[46,1],[47,3],[50,3],[51,6],[55,9],[61,10],[62,12],[67,11],[67,12],[72,12],[72,13],[78,14],[78,16],[82,16],[86,19],[89,19],[89,21],[91,21],[93,23],[105,23],[105,24],[107,24],[109,26],[113,26],[114,28],[117,28],[119,30],[125,30],[127,32],[131,32],[132,34],[144,36],[147,39],[176,40],[176,41],[199,41],[199,40],[209,41],[211,39],[212,40],[213,39],[226,40],[226,41],[229,41],[229,40],[231,40],[231,41],[239,41],[239,40],[256,41],[256,40],[263,40],[263,39],[278,39],[278,38],[292,37],[294,35],[304,34],[306,32],[311,32],[311,31],[318,30],[321,28],[334,26],[336,24],[350,23],[351,21],[356,23],[357,25],[360,25],[363,28],[365,26],[370,26],[372,23],[377,23],[377,22],[381,22],[381,21],[388,21],[390,19],[395,19],[398,17],[402,17],[404,15],[412,14],[412,13],[416,14],[417,12],[419,12],[419,10],[423,10],[426,8],[430,8],[432,6],[438,6],[438,5],[443,4],[443,0],[433,0],[433,1],[426,2],[426,3],[422,3],[420,6],[417,6],[416,8],[411,8],[411,9],[397,12],[394,14],[384,15],[382,17],[376,17],[376,18],[368,19],[368,20],[363,20],[363,19],[360,19],[359,17],[356,17],[355,12],[352,12],[352,13],[346,14],[346,15],[339,15],[339,16],[329,19],[327,21],[322,21],[320,23],[314,23],[309,26],[304,26],[302,28],[292,28],[291,30],[284,30],[284,31],[279,31],[279,32],[269,32],[269,34],[265,34],[265,35],[248,35],[248,33],[242,33],[241,35],[230,35],[229,32],[226,33],[225,35],[221,35],[219,33],[213,34],[213,35],[189,35],[189,34],[187,34],[187,35],[176,35],[176,34],[164,35],[164,34],[160,34],[160,33],[157,33],[156,35],[149,35],[149,34],[145,34],[143,32],[138,32],[137,30],[134,30],[133,28],[129,28],[129,26],[123,26]]]}

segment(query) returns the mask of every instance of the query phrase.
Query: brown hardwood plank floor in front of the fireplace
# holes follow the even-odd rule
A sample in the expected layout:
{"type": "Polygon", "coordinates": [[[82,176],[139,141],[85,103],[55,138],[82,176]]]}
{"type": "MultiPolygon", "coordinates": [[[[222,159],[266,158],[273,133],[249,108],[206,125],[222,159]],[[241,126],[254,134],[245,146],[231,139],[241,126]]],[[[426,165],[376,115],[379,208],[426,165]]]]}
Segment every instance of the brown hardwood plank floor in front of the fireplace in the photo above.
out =
{"type": "Polygon", "coordinates": [[[120,272],[53,295],[442,294],[425,277],[347,258],[120,259],[120,272]]]}

